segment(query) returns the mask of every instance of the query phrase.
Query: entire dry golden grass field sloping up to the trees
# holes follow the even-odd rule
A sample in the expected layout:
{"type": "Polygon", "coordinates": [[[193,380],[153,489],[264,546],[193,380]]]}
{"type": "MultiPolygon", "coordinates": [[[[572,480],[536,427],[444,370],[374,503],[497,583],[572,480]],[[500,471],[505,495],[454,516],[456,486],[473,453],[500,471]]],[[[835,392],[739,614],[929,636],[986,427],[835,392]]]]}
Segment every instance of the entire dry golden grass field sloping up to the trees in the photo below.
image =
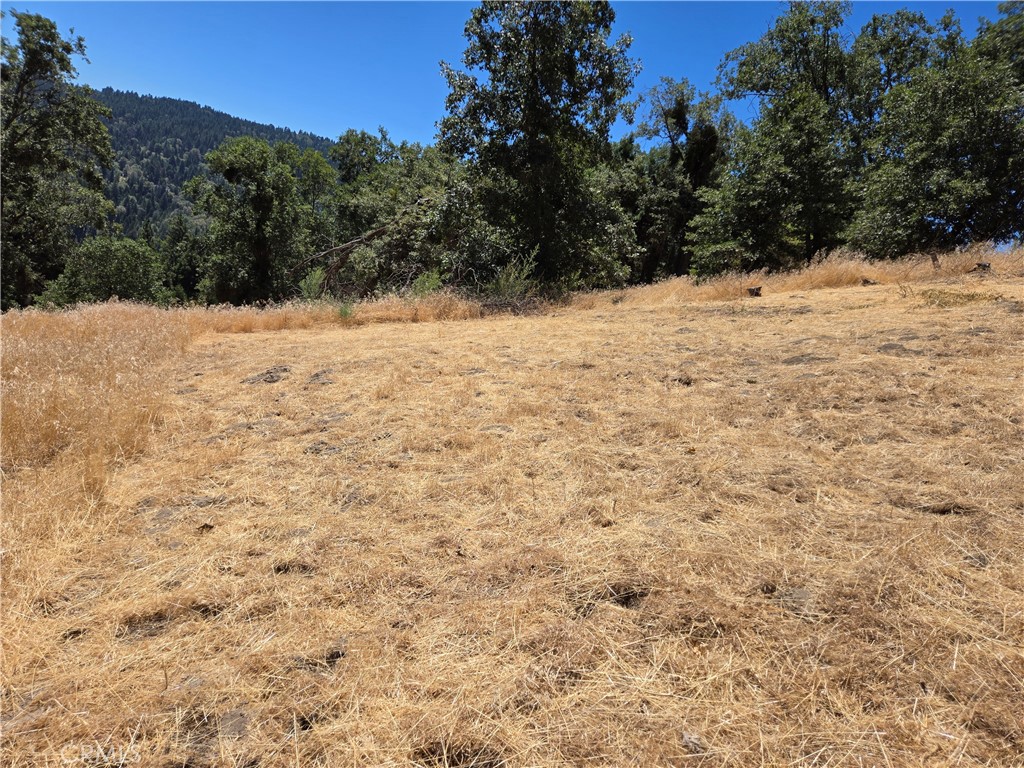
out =
{"type": "Polygon", "coordinates": [[[4,315],[0,760],[1024,766],[1024,252],[479,315],[4,315]]]}

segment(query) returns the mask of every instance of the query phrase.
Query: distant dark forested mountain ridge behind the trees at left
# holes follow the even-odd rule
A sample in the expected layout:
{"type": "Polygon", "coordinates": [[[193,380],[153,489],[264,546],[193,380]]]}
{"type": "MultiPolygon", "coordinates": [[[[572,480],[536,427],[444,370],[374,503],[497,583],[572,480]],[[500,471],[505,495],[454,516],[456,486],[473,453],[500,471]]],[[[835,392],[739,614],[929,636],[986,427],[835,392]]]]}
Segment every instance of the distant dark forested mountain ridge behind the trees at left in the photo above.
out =
{"type": "Polygon", "coordinates": [[[106,195],[117,206],[115,222],[137,237],[145,221],[155,234],[177,212],[187,213],[181,187],[206,171],[203,157],[231,136],[255,136],[270,143],[290,141],[325,156],[331,139],[237,118],[194,101],[103,88],[93,96],[111,109],[115,165],[105,174],[106,195]]]}

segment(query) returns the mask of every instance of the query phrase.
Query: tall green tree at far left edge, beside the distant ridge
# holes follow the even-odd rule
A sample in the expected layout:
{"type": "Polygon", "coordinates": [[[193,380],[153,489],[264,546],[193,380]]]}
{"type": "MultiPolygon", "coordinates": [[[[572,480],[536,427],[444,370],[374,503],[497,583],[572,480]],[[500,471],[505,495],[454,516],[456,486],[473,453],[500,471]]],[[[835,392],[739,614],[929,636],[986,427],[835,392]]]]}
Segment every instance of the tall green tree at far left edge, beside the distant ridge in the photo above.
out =
{"type": "Polygon", "coordinates": [[[10,14],[17,40],[3,38],[0,66],[4,309],[28,304],[60,273],[75,233],[100,228],[112,211],[100,173],[112,160],[109,113],[73,82],[85,42],[43,16],[10,14]]]}

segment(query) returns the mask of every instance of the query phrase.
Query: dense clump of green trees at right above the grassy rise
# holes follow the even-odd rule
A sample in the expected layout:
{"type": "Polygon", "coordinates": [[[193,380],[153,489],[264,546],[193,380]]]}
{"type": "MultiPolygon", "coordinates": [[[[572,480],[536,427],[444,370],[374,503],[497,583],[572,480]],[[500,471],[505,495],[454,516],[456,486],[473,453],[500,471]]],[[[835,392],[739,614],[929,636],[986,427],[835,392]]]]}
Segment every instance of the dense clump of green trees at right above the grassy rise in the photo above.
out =
{"type": "Polygon", "coordinates": [[[883,257],[1021,237],[1015,28],[1000,19],[971,45],[950,14],[933,26],[898,10],[845,42],[849,10],[792,3],[727,54],[724,95],[761,110],[703,196],[697,274],[787,267],[841,245],[883,257]]]}

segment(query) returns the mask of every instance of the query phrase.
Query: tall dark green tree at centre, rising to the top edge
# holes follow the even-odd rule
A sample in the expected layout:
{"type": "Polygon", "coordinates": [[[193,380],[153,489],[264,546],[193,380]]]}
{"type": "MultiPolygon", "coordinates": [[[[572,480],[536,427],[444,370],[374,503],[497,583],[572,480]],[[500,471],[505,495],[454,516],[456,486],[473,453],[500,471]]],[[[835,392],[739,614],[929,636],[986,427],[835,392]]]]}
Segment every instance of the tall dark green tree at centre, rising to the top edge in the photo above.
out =
{"type": "Polygon", "coordinates": [[[471,161],[487,223],[536,253],[548,282],[625,275],[620,217],[588,177],[612,123],[632,117],[638,68],[628,36],[609,40],[613,22],[606,2],[484,2],[466,24],[465,71],[442,62],[441,142],[471,161]]]}

